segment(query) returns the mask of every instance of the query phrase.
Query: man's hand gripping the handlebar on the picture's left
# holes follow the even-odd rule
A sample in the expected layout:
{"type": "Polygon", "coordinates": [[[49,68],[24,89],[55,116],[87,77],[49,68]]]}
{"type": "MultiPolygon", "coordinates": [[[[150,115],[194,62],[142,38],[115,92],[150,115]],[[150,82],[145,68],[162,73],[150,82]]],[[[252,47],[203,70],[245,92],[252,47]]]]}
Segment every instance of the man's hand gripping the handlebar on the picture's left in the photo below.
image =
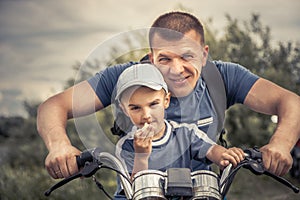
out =
{"type": "Polygon", "coordinates": [[[49,152],[45,167],[53,178],[67,178],[78,172],[76,155],[79,154],[80,151],[71,145],[55,148],[49,152]]]}

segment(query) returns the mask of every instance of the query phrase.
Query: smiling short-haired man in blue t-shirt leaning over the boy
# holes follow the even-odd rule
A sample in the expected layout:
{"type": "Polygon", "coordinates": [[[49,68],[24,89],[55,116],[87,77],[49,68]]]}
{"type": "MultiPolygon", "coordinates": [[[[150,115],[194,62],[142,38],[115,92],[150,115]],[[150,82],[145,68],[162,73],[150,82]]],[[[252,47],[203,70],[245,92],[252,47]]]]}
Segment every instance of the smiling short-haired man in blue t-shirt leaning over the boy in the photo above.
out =
{"type": "MultiPolygon", "coordinates": [[[[158,28],[150,30],[149,57],[172,93],[167,119],[195,123],[216,140],[216,126],[221,122],[216,120],[207,86],[200,77],[209,53],[201,23],[188,13],[172,12],[160,16],[152,27],[158,28]]],[[[286,174],[292,164],[290,151],[300,136],[299,96],[257,77],[240,65],[214,63],[224,79],[227,107],[243,103],[254,111],[278,116],[277,128],[261,151],[267,170],[277,175],[286,174]]],[[[80,151],[72,146],[67,136],[67,120],[109,105],[118,76],[132,64],[107,68],[40,105],[37,128],[49,150],[45,165],[53,178],[68,177],[78,170],[75,155],[80,151]],[[78,96],[73,97],[74,90],[78,96]],[[80,98],[80,101],[73,101],[73,98],[80,98]]]]}

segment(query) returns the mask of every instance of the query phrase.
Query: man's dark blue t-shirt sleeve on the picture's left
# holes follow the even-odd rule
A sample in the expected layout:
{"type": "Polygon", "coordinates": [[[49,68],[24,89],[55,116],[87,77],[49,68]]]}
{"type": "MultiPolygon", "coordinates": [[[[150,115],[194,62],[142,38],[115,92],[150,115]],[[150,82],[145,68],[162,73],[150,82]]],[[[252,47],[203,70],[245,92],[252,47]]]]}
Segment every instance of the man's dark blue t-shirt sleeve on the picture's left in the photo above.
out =
{"type": "Polygon", "coordinates": [[[87,80],[104,107],[110,105],[112,102],[111,100],[115,95],[114,90],[120,74],[134,64],[137,64],[137,62],[128,62],[107,67],[87,80]]]}

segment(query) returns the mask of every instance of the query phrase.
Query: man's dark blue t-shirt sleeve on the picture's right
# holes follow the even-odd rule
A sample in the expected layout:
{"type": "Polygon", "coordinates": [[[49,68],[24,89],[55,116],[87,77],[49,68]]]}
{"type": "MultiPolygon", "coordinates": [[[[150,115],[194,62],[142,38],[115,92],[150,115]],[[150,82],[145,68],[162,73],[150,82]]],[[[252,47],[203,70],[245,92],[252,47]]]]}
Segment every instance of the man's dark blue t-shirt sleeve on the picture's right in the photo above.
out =
{"type": "Polygon", "coordinates": [[[236,103],[244,103],[248,92],[259,79],[259,76],[239,64],[221,61],[214,63],[221,72],[225,83],[227,108],[236,103]]]}

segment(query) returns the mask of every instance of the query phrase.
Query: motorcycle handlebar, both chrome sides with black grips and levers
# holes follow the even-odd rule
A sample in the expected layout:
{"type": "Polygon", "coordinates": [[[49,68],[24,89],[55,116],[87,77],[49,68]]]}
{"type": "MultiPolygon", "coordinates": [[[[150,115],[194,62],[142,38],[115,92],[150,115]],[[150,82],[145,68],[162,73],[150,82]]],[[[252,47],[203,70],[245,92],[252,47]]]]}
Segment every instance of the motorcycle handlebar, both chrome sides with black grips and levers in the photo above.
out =
{"type": "MultiPolygon", "coordinates": [[[[257,148],[249,148],[244,150],[245,159],[241,161],[235,168],[232,168],[232,165],[228,165],[222,172],[220,176],[220,194],[222,197],[225,197],[227,194],[231,183],[237,172],[243,167],[245,169],[250,170],[255,175],[266,175],[274,180],[280,182],[281,184],[289,187],[295,193],[299,193],[299,188],[294,186],[292,183],[284,179],[283,177],[279,177],[275,174],[272,174],[265,170],[263,161],[262,161],[262,153],[257,148]]],[[[121,184],[124,188],[125,195],[127,199],[132,199],[133,191],[132,185],[130,182],[130,176],[128,172],[124,169],[121,162],[113,155],[100,152],[100,149],[94,148],[91,150],[83,151],[79,156],[76,157],[77,165],[79,169],[82,169],[78,173],[63,179],[57,184],[53,185],[49,190],[45,192],[46,196],[49,196],[52,191],[55,189],[65,185],[66,183],[79,178],[79,177],[91,177],[93,176],[99,169],[101,168],[109,168],[113,171],[116,171],[120,177],[121,184]]],[[[97,182],[96,182],[97,183],[97,182]]],[[[103,191],[104,189],[101,188],[103,191]]],[[[105,191],[104,191],[105,192],[105,191]]]]}

